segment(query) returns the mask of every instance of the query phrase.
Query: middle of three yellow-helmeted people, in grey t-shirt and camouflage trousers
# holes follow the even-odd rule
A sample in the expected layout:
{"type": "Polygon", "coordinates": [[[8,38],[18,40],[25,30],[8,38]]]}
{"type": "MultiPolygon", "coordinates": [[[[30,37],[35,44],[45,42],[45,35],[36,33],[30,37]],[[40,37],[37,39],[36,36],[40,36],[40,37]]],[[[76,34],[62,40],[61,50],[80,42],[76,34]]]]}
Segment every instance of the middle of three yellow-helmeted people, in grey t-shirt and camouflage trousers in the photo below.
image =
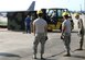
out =
{"type": "Polygon", "coordinates": [[[70,44],[71,44],[71,21],[68,20],[68,13],[63,12],[63,19],[64,22],[62,23],[62,36],[63,36],[63,41],[66,48],[67,53],[65,55],[66,57],[70,57],[70,44]]]}

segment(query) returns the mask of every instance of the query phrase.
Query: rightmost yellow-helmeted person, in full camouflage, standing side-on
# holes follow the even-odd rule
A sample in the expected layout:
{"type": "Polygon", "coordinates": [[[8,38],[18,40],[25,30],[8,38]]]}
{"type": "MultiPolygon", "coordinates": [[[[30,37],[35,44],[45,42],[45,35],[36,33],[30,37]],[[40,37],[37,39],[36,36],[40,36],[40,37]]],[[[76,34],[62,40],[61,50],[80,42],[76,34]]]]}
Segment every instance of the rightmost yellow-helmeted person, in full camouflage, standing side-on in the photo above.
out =
{"type": "Polygon", "coordinates": [[[78,26],[78,36],[79,36],[79,48],[77,50],[83,50],[83,43],[84,43],[84,25],[83,25],[83,20],[79,19],[79,14],[78,13],[75,13],[74,16],[78,21],[77,22],[77,26],[78,26]]]}

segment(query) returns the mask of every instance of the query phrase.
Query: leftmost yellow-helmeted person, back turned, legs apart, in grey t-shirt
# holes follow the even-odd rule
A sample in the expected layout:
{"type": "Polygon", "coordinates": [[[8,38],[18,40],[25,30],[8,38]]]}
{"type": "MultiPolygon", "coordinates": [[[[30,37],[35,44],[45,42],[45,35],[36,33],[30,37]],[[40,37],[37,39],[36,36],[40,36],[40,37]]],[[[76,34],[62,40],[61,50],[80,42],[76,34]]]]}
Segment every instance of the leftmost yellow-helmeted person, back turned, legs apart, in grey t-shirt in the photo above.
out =
{"type": "Polygon", "coordinates": [[[36,59],[38,53],[38,45],[41,43],[41,59],[43,59],[44,53],[44,45],[47,39],[47,23],[45,20],[42,19],[43,12],[38,11],[38,19],[33,21],[33,33],[35,36],[34,43],[33,43],[33,49],[34,49],[34,59],[36,59]]]}

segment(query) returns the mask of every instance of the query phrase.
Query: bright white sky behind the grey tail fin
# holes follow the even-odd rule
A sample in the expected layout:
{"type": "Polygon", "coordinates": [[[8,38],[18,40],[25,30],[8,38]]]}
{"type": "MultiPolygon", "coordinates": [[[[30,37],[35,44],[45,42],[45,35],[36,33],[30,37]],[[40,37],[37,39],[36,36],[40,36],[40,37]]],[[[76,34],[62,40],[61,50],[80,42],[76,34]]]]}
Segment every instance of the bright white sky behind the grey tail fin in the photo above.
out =
{"type": "Polygon", "coordinates": [[[67,8],[72,11],[85,10],[84,0],[0,0],[0,11],[25,11],[35,1],[35,10],[42,8],[67,8]]]}

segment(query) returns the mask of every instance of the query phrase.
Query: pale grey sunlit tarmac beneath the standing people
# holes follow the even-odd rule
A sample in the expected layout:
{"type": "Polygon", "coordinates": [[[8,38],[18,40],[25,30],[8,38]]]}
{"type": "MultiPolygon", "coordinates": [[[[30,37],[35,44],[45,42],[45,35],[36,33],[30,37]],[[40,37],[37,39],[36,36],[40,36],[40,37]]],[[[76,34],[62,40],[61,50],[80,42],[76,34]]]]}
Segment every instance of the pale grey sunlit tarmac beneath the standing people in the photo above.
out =
{"type": "MultiPolygon", "coordinates": [[[[61,33],[49,33],[44,53],[45,60],[85,60],[85,41],[84,50],[77,51],[79,40],[77,40],[76,33],[72,33],[71,57],[64,57],[66,52],[60,36],[61,33]]],[[[23,34],[22,32],[0,29],[0,60],[34,60],[33,40],[33,33],[23,34]]],[[[38,53],[36,60],[41,60],[40,53],[38,53]]]]}

